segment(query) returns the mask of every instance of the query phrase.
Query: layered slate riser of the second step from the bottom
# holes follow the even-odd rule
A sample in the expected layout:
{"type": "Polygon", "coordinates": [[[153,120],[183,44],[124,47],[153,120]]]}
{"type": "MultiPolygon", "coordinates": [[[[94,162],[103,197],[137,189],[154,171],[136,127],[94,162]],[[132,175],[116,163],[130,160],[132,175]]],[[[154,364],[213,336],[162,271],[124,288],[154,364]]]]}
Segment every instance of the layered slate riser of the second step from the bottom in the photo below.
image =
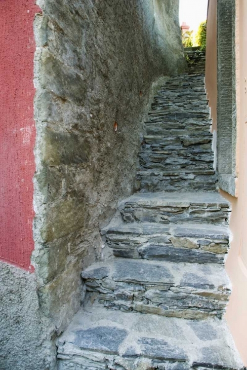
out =
{"type": "Polygon", "coordinates": [[[193,292],[186,287],[138,285],[107,278],[87,279],[85,285],[87,292],[91,292],[87,299],[96,299],[98,304],[110,309],[196,320],[221,318],[230,295],[230,291],[194,289],[193,292]]]}

